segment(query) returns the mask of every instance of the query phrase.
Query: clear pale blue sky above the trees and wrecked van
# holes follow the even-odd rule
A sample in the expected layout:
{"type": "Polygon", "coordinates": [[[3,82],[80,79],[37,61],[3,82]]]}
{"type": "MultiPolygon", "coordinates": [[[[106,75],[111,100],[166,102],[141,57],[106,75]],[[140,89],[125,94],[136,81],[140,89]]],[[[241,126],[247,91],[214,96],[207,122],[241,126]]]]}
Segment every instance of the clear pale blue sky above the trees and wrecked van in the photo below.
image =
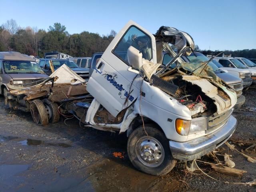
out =
{"type": "Polygon", "coordinates": [[[200,49],[256,48],[256,0],[1,0],[0,25],[11,18],[23,28],[60,22],[70,34],[100,35],[134,20],[152,33],[160,26],[188,32],[200,49]]]}

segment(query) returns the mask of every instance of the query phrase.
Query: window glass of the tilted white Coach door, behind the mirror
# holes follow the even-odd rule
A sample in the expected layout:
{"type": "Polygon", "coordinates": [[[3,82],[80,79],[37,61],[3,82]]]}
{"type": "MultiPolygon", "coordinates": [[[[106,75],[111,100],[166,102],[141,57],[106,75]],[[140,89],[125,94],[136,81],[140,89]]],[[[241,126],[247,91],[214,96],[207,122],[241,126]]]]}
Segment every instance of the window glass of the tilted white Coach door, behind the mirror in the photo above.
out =
{"type": "Polygon", "coordinates": [[[127,50],[130,46],[138,49],[142,53],[142,58],[146,60],[152,59],[152,44],[150,37],[135,26],[132,26],[127,30],[123,38],[118,42],[116,48],[114,48],[114,54],[126,64],[128,64],[127,50]]]}

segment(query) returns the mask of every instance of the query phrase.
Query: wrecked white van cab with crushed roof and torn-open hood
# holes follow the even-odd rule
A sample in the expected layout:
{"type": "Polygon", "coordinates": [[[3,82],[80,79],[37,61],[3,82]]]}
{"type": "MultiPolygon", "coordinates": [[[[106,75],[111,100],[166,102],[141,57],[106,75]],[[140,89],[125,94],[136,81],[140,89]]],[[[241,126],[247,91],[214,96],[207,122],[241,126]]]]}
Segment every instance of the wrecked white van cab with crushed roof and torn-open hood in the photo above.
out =
{"type": "Polygon", "coordinates": [[[195,65],[189,63],[170,68],[193,48],[185,32],[161,27],[154,36],[130,21],[112,40],[88,81],[94,100],[85,122],[102,130],[127,131],[129,158],[142,172],[166,174],[177,159],[207,154],[236,128],[231,115],[236,92],[206,62],[192,72],[189,69],[195,65]],[[169,44],[176,46],[178,54],[160,68],[163,47],[168,49],[169,44]]]}

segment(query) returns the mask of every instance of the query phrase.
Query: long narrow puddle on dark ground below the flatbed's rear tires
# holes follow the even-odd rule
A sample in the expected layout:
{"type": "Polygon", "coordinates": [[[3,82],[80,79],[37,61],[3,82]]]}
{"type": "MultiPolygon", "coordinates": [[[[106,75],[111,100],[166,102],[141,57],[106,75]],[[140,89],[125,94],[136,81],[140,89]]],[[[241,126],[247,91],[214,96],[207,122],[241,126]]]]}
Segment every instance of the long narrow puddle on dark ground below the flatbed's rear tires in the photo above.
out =
{"type": "Polygon", "coordinates": [[[25,146],[38,146],[38,145],[46,146],[47,145],[47,146],[60,146],[64,148],[72,147],[72,145],[66,144],[66,143],[49,143],[42,140],[34,140],[34,139],[26,139],[26,138],[14,137],[14,136],[0,135],[0,142],[6,142],[6,141],[15,141],[25,146]]]}

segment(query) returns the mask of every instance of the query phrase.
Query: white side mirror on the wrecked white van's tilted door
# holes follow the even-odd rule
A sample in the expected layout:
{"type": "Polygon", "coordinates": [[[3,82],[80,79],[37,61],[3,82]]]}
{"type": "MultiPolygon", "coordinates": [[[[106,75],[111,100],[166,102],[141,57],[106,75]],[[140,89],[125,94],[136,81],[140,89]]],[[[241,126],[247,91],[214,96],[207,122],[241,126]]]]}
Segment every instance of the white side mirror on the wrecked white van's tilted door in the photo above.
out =
{"type": "Polygon", "coordinates": [[[140,69],[142,67],[142,53],[133,46],[130,46],[127,50],[127,59],[133,68],[140,69]]]}

